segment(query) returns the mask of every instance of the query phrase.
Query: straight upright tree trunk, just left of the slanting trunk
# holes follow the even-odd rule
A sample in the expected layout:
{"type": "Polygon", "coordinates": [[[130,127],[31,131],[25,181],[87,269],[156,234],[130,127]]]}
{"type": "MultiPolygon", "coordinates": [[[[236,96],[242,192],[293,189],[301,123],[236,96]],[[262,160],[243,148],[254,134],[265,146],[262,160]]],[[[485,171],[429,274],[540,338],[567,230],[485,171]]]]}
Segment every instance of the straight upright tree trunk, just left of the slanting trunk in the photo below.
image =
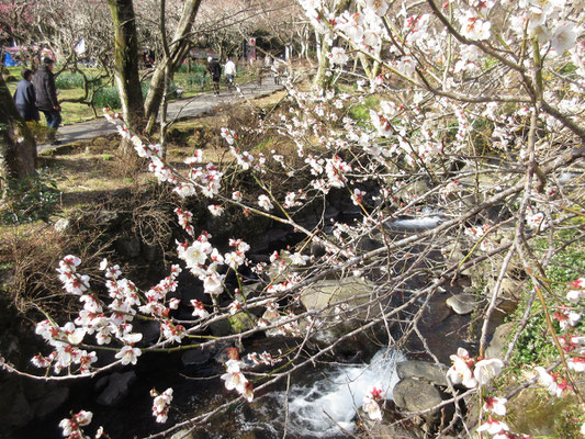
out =
{"type": "Polygon", "coordinates": [[[108,0],[114,25],[115,82],[122,114],[133,131],[144,126],[144,99],[138,74],[138,40],[132,0],[108,0]]]}

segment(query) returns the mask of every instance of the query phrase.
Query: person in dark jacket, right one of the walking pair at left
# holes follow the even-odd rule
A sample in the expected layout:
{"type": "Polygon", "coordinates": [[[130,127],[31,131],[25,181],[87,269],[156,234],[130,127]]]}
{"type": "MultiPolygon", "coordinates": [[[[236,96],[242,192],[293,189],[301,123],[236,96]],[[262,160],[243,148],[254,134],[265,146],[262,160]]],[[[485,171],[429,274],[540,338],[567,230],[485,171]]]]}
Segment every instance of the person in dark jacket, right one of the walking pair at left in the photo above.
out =
{"type": "Polygon", "coordinates": [[[49,133],[47,139],[52,145],[58,145],[55,139],[57,128],[61,123],[60,105],[57,101],[55,89],[55,75],[53,75],[54,61],[50,58],[43,59],[43,67],[34,76],[34,90],[36,92],[36,106],[45,114],[49,133]]]}

